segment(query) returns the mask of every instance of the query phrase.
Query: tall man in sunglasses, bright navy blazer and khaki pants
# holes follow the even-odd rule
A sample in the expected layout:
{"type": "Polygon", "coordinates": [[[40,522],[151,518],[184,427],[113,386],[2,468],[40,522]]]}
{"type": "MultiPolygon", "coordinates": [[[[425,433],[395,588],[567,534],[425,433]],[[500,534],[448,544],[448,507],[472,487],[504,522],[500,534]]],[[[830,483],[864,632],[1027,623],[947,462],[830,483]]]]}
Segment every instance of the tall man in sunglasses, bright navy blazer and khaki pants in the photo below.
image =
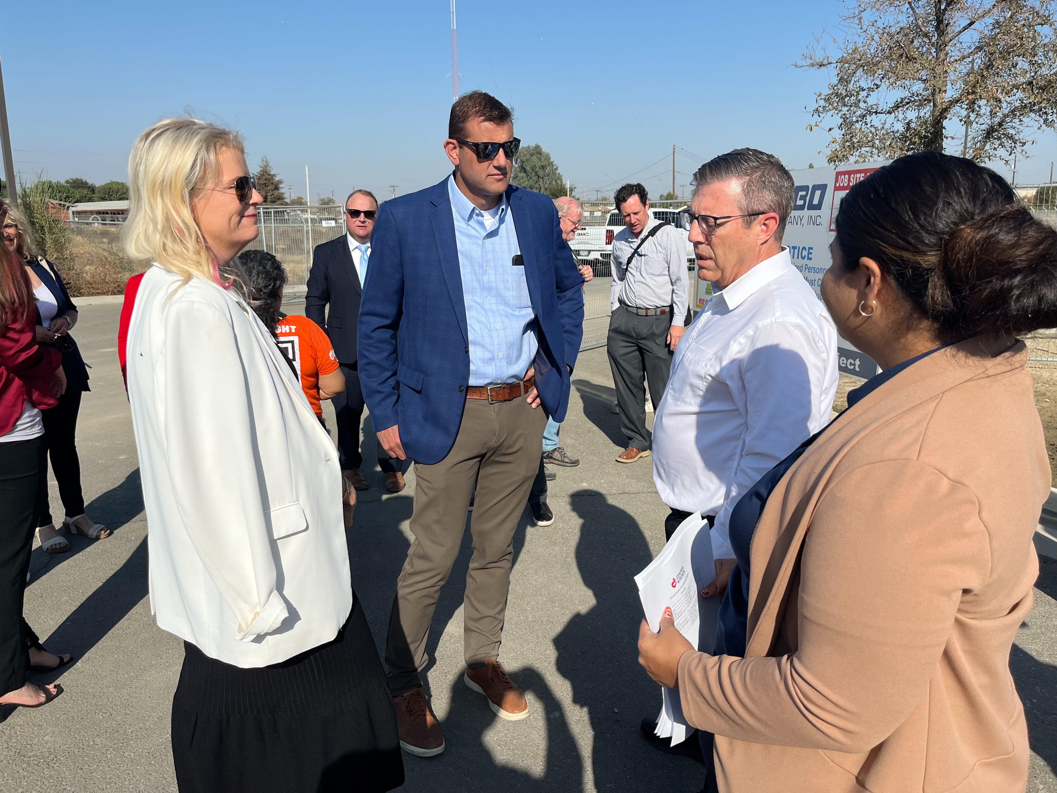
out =
{"type": "Polygon", "coordinates": [[[509,185],[519,145],[495,97],[474,91],[452,105],[444,148],[455,170],[382,204],[359,310],[359,376],[378,443],[415,463],[414,541],[386,665],[401,745],[422,757],[444,751],[419,672],[471,496],[464,680],[501,718],[528,715],[499,646],[543,427],[569,403],[583,279],[552,200],[509,185]]]}

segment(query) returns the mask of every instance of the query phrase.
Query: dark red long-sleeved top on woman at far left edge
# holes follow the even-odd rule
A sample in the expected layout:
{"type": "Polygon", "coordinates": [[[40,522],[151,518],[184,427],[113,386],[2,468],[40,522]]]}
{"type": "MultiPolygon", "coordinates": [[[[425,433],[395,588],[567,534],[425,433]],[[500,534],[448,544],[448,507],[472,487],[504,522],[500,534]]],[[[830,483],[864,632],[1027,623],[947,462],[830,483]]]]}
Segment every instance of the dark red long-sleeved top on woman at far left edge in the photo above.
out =
{"type": "Polygon", "coordinates": [[[18,424],[25,401],[34,407],[55,407],[49,377],[62,366],[62,353],[37,344],[37,317],[32,307],[0,333],[0,436],[18,424]]]}

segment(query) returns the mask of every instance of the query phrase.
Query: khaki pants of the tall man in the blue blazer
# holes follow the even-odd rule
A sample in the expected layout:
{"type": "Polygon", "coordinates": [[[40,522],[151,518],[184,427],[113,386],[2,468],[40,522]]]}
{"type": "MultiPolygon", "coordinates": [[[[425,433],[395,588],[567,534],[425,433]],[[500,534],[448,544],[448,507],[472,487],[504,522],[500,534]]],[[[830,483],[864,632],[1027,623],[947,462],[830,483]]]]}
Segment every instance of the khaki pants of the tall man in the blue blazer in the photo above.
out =
{"type": "Polygon", "coordinates": [[[545,425],[542,408],[533,409],[524,398],[492,405],[485,400],[466,400],[459,435],[447,457],[433,465],[414,464],[414,541],[396,579],[386,638],[393,695],[422,684],[419,671],[428,661],[429,625],[441,587],[459,555],[475,487],[463,649],[469,666],[499,658],[514,531],[539,469],[545,425]]]}

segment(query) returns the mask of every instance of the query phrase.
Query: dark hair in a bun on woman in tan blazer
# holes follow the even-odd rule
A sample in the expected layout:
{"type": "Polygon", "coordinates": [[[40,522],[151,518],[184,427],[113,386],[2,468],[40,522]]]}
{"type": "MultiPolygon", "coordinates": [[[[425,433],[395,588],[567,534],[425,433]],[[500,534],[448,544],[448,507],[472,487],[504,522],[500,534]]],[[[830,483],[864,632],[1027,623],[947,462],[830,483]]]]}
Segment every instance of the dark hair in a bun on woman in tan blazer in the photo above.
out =
{"type": "Polygon", "coordinates": [[[848,191],[836,229],[846,270],[873,259],[950,338],[1057,327],[1057,230],[971,160],[900,158],[848,191]]]}

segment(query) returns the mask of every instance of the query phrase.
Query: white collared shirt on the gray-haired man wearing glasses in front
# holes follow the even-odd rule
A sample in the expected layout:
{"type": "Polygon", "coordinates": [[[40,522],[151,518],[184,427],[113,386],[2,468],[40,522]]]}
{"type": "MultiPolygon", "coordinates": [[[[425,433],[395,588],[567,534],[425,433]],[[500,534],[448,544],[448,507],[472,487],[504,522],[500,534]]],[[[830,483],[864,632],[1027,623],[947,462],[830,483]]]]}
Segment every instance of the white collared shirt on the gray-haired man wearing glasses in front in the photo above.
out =
{"type": "Polygon", "coordinates": [[[837,332],[792,265],[765,259],[698,313],[675,348],[653,424],[653,481],[669,506],[715,515],[712,553],[733,558],[738,499],[830,420],[837,332]]]}

